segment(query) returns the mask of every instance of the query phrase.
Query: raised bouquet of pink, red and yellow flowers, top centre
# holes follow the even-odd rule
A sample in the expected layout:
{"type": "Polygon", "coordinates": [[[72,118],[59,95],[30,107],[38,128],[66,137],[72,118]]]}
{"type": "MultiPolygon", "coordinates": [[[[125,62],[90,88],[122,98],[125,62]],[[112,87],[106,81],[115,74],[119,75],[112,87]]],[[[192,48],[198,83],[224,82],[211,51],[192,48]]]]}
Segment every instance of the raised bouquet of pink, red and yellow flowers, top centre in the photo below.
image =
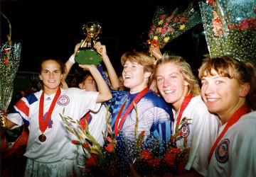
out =
{"type": "Polygon", "coordinates": [[[192,3],[183,12],[180,12],[179,8],[171,11],[169,8],[157,6],[147,43],[163,48],[167,42],[174,40],[199,23],[201,23],[201,18],[192,3]]]}

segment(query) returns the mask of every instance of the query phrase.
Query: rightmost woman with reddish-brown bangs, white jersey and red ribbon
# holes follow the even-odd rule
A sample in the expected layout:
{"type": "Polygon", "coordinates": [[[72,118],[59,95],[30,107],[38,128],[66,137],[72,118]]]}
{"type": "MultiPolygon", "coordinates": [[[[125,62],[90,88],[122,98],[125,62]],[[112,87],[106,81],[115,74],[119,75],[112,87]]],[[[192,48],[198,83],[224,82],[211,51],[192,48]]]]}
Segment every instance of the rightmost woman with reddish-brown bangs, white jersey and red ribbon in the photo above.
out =
{"type": "Polygon", "coordinates": [[[199,69],[208,110],[220,118],[208,176],[256,176],[256,74],[252,64],[223,56],[199,69]]]}

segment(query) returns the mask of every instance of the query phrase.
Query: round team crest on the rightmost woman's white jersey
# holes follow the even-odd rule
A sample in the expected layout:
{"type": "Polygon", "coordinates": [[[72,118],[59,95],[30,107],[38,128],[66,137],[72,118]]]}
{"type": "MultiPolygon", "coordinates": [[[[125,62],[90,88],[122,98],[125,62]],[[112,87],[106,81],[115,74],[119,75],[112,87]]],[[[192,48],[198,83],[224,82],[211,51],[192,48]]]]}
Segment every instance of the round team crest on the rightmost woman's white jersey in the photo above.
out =
{"type": "Polygon", "coordinates": [[[229,146],[229,140],[224,139],[220,144],[218,144],[218,147],[215,150],[215,156],[216,159],[220,163],[224,163],[225,161],[228,161],[228,146],[229,146]]]}

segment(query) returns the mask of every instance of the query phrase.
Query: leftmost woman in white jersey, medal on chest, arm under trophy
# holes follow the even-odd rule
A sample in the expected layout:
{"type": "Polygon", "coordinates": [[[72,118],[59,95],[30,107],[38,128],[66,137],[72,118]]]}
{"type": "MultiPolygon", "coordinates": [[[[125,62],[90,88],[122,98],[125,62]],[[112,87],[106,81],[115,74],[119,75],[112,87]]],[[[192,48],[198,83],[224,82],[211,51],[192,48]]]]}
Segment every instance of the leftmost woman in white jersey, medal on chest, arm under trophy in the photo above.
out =
{"type": "Polygon", "coordinates": [[[60,114],[80,120],[88,110],[97,111],[100,103],[112,98],[107,84],[94,65],[80,67],[94,76],[99,92],[60,89],[65,65],[58,59],[41,59],[38,75],[43,81],[43,91],[21,98],[7,115],[8,128],[25,123],[30,131],[24,154],[28,157],[25,176],[80,175],[76,161],[78,147],[71,143],[75,136],[65,129],[60,114]]]}

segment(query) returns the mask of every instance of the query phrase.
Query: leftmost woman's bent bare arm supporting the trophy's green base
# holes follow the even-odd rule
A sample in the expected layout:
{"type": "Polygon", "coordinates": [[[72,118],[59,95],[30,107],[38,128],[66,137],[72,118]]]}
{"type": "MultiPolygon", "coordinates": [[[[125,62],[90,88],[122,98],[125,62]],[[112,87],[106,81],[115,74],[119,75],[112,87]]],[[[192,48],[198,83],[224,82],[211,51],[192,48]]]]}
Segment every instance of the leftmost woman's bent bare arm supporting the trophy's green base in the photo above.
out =
{"type": "Polygon", "coordinates": [[[110,89],[108,88],[105,80],[102,78],[102,75],[97,70],[94,64],[88,65],[88,64],[79,64],[79,67],[81,67],[84,70],[89,71],[93,78],[96,81],[97,88],[99,90],[99,95],[97,96],[97,103],[102,103],[105,101],[109,101],[112,98],[112,93],[110,92],[110,89]]]}

